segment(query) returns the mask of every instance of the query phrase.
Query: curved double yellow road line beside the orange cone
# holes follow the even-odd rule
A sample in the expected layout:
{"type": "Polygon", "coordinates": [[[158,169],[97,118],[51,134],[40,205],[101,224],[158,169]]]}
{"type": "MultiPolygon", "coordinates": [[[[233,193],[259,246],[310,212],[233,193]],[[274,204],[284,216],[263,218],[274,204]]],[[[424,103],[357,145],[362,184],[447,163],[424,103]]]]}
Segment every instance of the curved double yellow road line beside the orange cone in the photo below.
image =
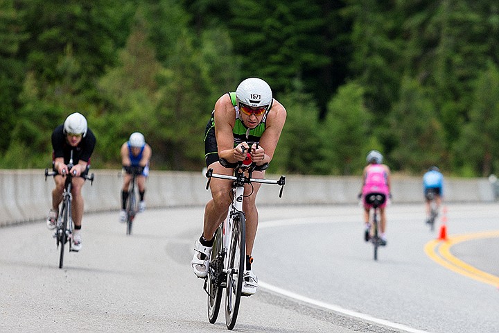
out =
{"type": "Polygon", "coordinates": [[[429,241],[424,247],[424,250],[426,255],[428,255],[428,257],[430,257],[432,260],[434,260],[441,266],[454,271],[455,273],[459,273],[468,278],[472,278],[483,283],[491,284],[494,287],[499,287],[499,277],[484,271],[480,271],[480,269],[475,268],[470,264],[466,264],[466,262],[457,259],[457,257],[454,257],[450,253],[450,248],[452,246],[463,241],[495,237],[499,237],[499,230],[478,232],[475,234],[461,234],[453,237],[448,237],[447,241],[439,241],[437,239],[429,241]]]}

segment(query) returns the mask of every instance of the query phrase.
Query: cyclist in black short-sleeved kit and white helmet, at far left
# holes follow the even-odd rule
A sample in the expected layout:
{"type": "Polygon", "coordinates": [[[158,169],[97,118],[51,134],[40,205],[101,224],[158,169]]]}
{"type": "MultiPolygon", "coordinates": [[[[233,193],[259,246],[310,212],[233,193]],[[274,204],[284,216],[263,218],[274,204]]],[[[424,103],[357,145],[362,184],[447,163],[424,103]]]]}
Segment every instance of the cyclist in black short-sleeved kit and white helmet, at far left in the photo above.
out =
{"type": "Polygon", "coordinates": [[[73,218],[74,229],[72,237],[72,250],[78,251],[81,248],[81,222],[83,216],[83,198],[81,189],[85,184],[85,178],[78,177],[86,175],[90,167],[90,156],[94,152],[96,137],[87,126],[87,119],[75,112],[70,114],[63,124],[55,128],[52,133],[53,148],[53,171],[58,174],[54,176],[55,188],[52,191],[52,208],[49,211],[46,225],[47,228],[55,228],[59,205],[62,201],[64,191],[64,179],[67,173],[73,173],[71,194],[73,196],[73,206],[71,216],[73,218]],[[68,170],[67,164],[73,151],[73,167],[68,170]]]}

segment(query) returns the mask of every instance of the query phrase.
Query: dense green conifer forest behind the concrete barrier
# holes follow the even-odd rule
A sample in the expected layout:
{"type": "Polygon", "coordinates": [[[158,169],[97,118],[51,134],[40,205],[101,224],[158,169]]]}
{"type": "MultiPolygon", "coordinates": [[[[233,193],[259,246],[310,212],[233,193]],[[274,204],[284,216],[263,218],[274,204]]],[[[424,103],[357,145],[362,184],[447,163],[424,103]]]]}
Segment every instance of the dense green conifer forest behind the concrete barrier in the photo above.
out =
{"type": "Polygon", "coordinates": [[[499,172],[499,3],[0,0],[0,168],[45,168],[81,112],[94,168],[140,131],[152,169],[200,171],[215,101],[267,80],[288,119],[270,171],[499,172]]]}

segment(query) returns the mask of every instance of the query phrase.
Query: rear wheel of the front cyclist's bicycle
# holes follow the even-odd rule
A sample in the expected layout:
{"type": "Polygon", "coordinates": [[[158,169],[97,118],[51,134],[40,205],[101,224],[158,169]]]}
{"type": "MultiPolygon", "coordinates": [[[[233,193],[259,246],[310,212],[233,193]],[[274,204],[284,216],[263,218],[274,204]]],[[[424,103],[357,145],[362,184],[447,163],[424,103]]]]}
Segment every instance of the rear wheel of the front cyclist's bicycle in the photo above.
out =
{"type": "Polygon", "coordinates": [[[223,282],[223,232],[222,225],[218,227],[213,238],[213,248],[211,250],[212,259],[209,262],[209,273],[207,276],[207,293],[208,293],[208,320],[214,324],[218,318],[220,311],[220,303],[222,302],[222,282],[223,282]]]}

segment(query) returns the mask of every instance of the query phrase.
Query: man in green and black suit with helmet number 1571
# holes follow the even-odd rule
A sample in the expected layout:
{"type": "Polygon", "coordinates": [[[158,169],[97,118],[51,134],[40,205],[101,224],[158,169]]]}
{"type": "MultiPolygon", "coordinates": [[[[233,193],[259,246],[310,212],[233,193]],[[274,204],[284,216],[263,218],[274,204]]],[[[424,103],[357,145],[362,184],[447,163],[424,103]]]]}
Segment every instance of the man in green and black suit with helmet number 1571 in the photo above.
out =
{"type": "MultiPolygon", "coordinates": [[[[286,122],[286,109],[272,96],[272,89],[261,78],[247,78],[241,82],[236,92],[223,94],[215,103],[205,137],[204,151],[208,169],[213,173],[232,175],[234,169],[222,167],[219,160],[229,163],[245,160],[249,149],[252,161],[257,165],[268,163],[286,122]],[[247,142],[258,142],[249,147],[247,142]]],[[[253,178],[263,178],[265,171],[255,171],[253,178]]],[[[208,262],[213,245],[213,234],[227,216],[231,203],[231,182],[211,178],[211,197],[204,210],[204,228],[195,242],[195,253],[191,261],[198,278],[207,276],[208,262]]],[[[242,293],[252,295],[258,287],[258,279],[252,271],[252,250],[259,213],[256,209],[256,195],[261,184],[245,186],[243,210],[246,214],[246,265],[242,293]]]]}

